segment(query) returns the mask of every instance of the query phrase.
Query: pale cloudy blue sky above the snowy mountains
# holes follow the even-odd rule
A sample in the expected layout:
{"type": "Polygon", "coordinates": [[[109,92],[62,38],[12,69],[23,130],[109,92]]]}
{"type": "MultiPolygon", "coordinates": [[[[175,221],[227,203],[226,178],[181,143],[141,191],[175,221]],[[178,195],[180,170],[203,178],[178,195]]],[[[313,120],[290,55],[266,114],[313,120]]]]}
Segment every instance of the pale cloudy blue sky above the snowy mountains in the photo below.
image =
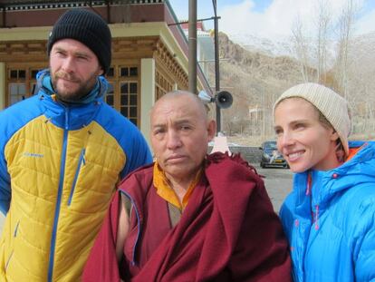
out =
{"type": "MultiPolygon", "coordinates": [[[[322,1],[322,0],[321,0],[322,1]]],[[[341,15],[348,0],[323,0],[330,7],[332,19],[341,15]]],[[[351,0],[358,6],[354,33],[375,32],[375,0],[351,0]]],[[[292,34],[293,25],[299,17],[305,30],[313,28],[314,12],[318,0],[216,0],[217,15],[221,16],[219,31],[226,34],[253,34],[277,38],[292,34]],[[310,25],[310,27],[309,27],[310,25]]],[[[188,0],[169,0],[180,20],[188,19],[188,0]]],[[[214,15],[212,0],[197,0],[197,19],[214,15]]],[[[204,22],[207,29],[213,28],[213,21],[204,22]]]]}

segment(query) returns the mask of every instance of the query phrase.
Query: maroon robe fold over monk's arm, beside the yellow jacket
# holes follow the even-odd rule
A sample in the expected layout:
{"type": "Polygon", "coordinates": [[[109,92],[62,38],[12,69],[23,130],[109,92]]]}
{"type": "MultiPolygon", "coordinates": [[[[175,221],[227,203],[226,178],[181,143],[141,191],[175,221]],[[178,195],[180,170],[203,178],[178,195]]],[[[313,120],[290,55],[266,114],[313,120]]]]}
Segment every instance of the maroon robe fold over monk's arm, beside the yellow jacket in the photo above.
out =
{"type": "Polygon", "coordinates": [[[116,192],[83,269],[83,282],[120,281],[116,258],[116,238],[120,211],[120,192],[116,192]]]}

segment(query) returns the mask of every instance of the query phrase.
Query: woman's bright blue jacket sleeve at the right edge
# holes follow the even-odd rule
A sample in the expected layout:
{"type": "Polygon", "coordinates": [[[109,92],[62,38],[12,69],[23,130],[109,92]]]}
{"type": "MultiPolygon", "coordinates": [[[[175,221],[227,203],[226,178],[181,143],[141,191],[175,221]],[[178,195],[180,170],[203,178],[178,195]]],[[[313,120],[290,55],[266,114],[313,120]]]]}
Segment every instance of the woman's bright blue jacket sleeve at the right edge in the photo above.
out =
{"type": "Polygon", "coordinates": [[[375,281],[375,202],[361,209],[359,219],[356,229],[361,235],[356,236],[354,246],[356,281],[375,281]]]}

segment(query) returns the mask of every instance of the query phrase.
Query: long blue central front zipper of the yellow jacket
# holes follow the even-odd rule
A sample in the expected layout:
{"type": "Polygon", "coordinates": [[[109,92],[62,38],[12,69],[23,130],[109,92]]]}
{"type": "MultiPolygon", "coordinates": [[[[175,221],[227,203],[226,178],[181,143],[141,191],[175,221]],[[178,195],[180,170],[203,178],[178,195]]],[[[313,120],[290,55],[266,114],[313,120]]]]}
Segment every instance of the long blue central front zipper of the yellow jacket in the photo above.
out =
{"type": "Polygon", "coordinates": [[[51,238],[50,259],[49,259],[49,266],[48,266],[48,282],[53,281],[54,248],[56,245],[56,232],[57,232],[57,226],[59,223],[60,205],[62,202],[62,195],[63,195],[63,179],[64,179],[64,174],[65,174],[66,148],[68,145],[67,144],[68,143],[68,129],[69,129],[68,125],[69,125],[69,108],[66,108],[65,127],[63,131],[63,152],[62,152],[62,160],[60,164],[59,189],[57,191],[56,209],[54,210],[53,234],[51,238]]]}

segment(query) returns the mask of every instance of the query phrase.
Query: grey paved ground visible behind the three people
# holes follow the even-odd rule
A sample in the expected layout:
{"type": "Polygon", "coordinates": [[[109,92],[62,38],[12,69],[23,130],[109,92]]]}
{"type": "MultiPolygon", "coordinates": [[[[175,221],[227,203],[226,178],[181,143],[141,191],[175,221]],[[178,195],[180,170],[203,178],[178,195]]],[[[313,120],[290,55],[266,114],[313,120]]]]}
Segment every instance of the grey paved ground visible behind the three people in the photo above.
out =
{"type": "MultiPolygon", "coordinates": [[[[284,198],[292,189],[292,172],[279,168],[262,169],[253,164],[259,174],[264,175],[265,189],[274,204],[274,210],[279,211],[284,198]]],[[[0,213],[0,230],[3,230],[4,216],[0,213]]]]}

